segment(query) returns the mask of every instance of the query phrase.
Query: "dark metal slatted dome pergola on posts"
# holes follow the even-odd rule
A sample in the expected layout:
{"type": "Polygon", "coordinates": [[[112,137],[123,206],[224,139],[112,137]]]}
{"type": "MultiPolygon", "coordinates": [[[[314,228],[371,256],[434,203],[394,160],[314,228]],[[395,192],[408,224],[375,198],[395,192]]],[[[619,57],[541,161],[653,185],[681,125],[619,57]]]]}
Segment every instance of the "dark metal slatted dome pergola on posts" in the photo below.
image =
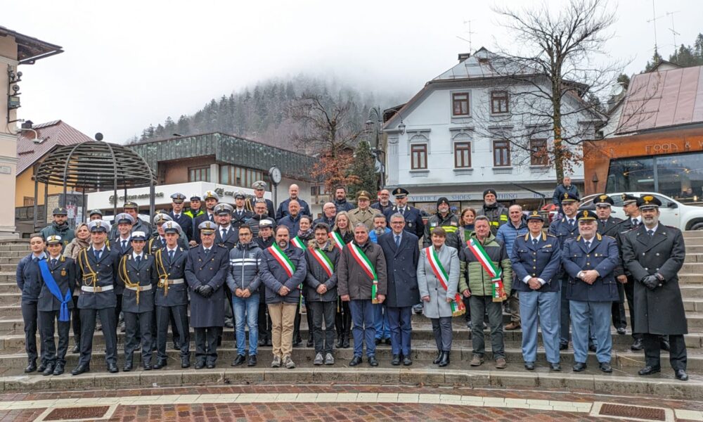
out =
{"type": "MultiPolygon", "coordinates": [[[[97,141],[87,141],[74,145],[60,146],[46,156],[34,172],[34,196],[38,194],[38,184],[45,184],[44,203],[47,200],[47,186],[63,186],[65,201],[67,187],[83,192],[85,215],[86,191],[115,191],[150,186],[150,215],[154,209],[154,186],[157,183],[154,171],[148,163],[131,148],[117,143],[101,141],[102,134],[96,134],[97,141]]],[[[38,199],[38,198],[37,198],[38,199]]],[[[34,201],[34,226],[36,226],[37,200],[34,201]]],[[[65,204],[62,204],[65,206],[65,204]]],[[[113,203],[117,214],[117,200],[113,203]]],[[[47,210],[49,212],[49,210],[47,210]]]]}

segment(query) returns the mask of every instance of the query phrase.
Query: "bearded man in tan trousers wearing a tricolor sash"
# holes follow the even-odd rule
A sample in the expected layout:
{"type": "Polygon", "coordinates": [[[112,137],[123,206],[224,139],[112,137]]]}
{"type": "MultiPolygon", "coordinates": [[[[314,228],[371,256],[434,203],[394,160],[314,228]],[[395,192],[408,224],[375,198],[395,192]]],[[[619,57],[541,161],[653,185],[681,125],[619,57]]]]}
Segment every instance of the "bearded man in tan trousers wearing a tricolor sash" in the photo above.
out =
{"type": "Polygon", "coordinates": [[[283,364],[295,368],[290,358],[293,351],[293,323],[300,299],[299,285],[307,276],[305,252],[290,243],[288,226],[276,227],[276,242],[264,250],[266,261],[259,276],[266,285],[266,305],[271,316],[273,340],[272,368],[283,364]]]}

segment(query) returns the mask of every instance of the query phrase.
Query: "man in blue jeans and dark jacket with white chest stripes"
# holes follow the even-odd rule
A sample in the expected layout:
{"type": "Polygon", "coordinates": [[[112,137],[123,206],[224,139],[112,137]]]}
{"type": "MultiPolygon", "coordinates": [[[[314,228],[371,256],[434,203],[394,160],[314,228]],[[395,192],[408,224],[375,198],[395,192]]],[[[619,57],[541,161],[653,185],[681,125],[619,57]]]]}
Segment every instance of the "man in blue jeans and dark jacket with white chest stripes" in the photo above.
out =
{"type": "Polygon", "coordinates": [[[240,366],[246,359],[245,324],[249,327],[249,362],[247,362],[247,366],[256,366],[257,364],[259,285],[261,284],[258,274],[264,252],[257,243],[252,242],[252,237],[250,226],[240,226],[239,242],[229,252],[227,286],[232,292],[237,343],[237,357],[232,362],[232,366],[240,366]]]}

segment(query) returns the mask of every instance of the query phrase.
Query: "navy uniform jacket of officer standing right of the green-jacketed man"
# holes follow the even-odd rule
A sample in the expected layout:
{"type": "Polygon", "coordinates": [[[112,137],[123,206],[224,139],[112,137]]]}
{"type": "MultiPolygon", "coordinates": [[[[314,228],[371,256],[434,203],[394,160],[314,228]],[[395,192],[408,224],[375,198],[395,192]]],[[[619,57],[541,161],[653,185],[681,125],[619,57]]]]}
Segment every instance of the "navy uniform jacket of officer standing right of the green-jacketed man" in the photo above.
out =
{"type": "Polygon", "coordinates": [[[536,246],[532,243],[529,233],[515,238],[510,262],[512,263],[512,272],[515,274],[515,282],[512,283],[514,290],[519,292],[532,291],[524,282],[524,278],[530,276],[545,281],[537,291],[559,291],[558,277],[562,266],[562,254],[559,241],[554,236],[542,232],[536,246]]]}

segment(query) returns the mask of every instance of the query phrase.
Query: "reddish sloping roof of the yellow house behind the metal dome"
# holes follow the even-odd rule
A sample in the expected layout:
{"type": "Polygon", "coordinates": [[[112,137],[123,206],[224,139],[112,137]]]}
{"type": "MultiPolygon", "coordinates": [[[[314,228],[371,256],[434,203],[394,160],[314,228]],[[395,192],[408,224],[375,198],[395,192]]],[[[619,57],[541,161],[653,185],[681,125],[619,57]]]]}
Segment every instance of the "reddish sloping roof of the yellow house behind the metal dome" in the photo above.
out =
{"type": "Polygon", "coordinates": [[[41,143],[34,143],[34,132],[23,130],[17,139],[17,174],[20,175],[35,162],[51,152],[53,148],[61,145],[73,145],[85,141],[92,141],[86,134],[80,132],[63,120],[54,120],[41,124],[34,124],[32,129],[37,131],[37,138],[41,143]]]}

